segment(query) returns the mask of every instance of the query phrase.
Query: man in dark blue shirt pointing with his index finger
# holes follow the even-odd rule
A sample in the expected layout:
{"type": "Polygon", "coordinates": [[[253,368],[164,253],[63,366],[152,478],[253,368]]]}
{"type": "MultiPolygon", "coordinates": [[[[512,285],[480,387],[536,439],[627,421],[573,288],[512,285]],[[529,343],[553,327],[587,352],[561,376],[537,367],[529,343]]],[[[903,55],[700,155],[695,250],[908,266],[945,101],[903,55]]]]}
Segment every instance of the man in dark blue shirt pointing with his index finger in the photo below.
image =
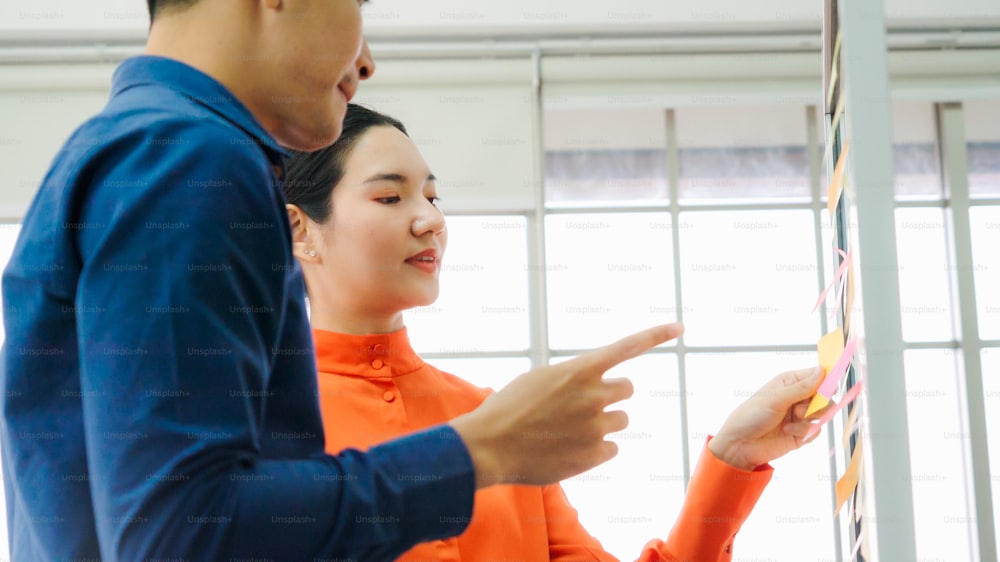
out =
{"type": "Polygon", "coordinates": [[[14,560],[391,559],[460,533],[477,487],[615,454],[603,410],[631,385],[601,375],[678,326],[323,453],[282,146],[340,133],[374,71],[361,3],[149,1],[146,56],[57,154],[3,276],[14,560]]]}

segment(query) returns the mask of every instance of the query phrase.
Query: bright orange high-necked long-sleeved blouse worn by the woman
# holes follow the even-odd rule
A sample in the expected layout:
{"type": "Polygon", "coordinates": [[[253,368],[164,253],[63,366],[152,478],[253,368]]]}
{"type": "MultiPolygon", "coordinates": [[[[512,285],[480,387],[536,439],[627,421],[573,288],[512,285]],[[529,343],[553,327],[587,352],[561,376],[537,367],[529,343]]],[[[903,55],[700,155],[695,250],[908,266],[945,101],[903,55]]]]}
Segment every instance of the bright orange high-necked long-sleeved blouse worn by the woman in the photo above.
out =
{"type": "MultiPolygon", "coordinates": [[[[326,450],[367,449],[447,422],[475,409],[491,392],[423,362],[403,328],[354,336],[313,330],[326,450]]],[[[654,539],[640,562],[728,562],[736,532],[772,469],[731,467],[707,450],[666,541],[654,539]]],[[[562,487],[491,486],[476,492],[472,518],[458,537],[421,543],[400,560],[616,560],[580,525],[562,487]]]]}

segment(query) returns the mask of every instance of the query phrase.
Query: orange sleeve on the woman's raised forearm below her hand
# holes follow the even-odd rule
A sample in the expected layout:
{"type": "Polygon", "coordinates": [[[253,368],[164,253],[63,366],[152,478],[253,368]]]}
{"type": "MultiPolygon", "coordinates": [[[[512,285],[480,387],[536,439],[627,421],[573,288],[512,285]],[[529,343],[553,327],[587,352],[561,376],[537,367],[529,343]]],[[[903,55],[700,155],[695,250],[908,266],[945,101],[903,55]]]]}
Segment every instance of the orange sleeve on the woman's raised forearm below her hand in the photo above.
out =
{"type": "Polygon", "coordinates": [[[706,440],[670,536],[646,543],[639,562],[729,562],[736,532],[773,473],[766,464],[752,472],[729,466],[708,450],[706,440]]]}

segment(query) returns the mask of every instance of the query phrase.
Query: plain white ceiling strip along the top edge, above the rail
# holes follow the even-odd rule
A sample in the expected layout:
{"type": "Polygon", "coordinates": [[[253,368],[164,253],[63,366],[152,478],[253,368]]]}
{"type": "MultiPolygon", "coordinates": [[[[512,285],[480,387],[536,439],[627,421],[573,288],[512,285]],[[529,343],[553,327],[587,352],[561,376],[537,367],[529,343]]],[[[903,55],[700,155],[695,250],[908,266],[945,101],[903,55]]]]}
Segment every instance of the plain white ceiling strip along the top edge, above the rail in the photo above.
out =
{"type": "MultiPolygon", "coordinates": [[[[872,0],[867,0],[872,1],[872,0]]],[[[997,0],[883,0],[890,29],[1000,29],[997,0]]],[[[823,0],[372,0],[372,40],[818,32],[823,0]]],[[[142,40],[144,0],[0,0],[0,41],[142,40]]]]}

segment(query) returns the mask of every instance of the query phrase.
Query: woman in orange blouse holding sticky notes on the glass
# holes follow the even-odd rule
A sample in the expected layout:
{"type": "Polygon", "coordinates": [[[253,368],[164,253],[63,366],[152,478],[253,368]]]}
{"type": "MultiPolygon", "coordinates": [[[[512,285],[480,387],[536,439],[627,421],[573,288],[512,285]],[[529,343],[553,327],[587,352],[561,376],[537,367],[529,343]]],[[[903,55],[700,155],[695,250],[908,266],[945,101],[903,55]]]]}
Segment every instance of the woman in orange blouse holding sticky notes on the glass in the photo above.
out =
{"type": "MultiPolygon", "coordinates": [[[[350,106],[334,145],[294,155],[285,191],[310,300],[327,451],[365,449],[486,399],[490,391],[417,356],[403,325],[404,310],[437,298],[447,243],[434,175],[403,125],[350,106]]],[[[803,414],[819,382],[818,369],[785,373],[737,408],[702,451],[667,540],[650,540],[639,560],[730,560],[735,534],[770,480],[767,463],[804,444],[803,414]]],[[[357,524],[391,519],[373,514],[357,524]]],[[[556,484],[481,489],[462,535],[419,544],[400,560],[615,558],[556,484]]]]}

